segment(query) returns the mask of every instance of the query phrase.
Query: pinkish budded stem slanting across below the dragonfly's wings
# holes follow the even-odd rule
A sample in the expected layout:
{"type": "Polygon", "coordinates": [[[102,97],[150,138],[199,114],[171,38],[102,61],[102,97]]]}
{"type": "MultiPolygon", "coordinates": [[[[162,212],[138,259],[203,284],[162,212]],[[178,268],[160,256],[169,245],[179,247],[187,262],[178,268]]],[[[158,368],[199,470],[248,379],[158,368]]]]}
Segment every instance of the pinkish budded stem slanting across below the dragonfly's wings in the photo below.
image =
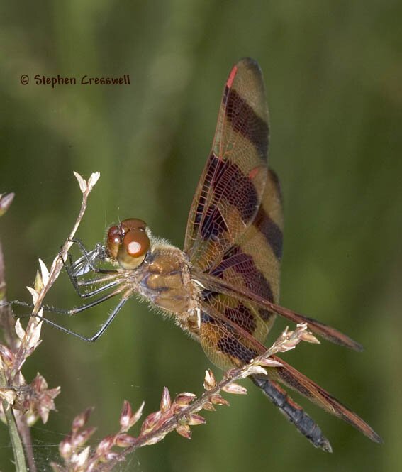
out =
{"type": "Polygon", "coordinates": [[[204,424],[206,419],[198,414],[200,410],[214,411],[216,405],[229,405],[220,395],[226,393],[245,394],[247,390],[235,383],[235,380],[250,375],[267,375],[266,367],[281,366],[278,358],[272,358],[277,352],[293,349],[300,341],[317,342],[317,339],[308,331],[306,324],[299,324],[295,331],[288,331],[279,336],[274,345],[262,356],[257,356],[242,368],[234,368],[225,372],[222,380],[216,382],[211,370],[206,371],[203,386],[205,392],[197,399],[194,393],[179,393],[170,400],[169,390],[163,389],[160,401],[160,410],[150,413],[140,427],[140,434],[133,437],[128,430],[138,422],[143,412],[144,402],[133,413],[130,403],[126,400],[120,415],[120,429],[102,439],[96,448],[86,446],[86,442],[94,433],[94,427],[87,427],[90,409],[74,418],[72,432],[60,443],[60,456],[64,465],[52,463],[55,472],[110,472],[118,463],[121,463],[129,454],[138,448],[156,444],[172,431],[191,439],[191,426],[204,424]],[[118,452],[116,448],[123,448],[118,452]]]}

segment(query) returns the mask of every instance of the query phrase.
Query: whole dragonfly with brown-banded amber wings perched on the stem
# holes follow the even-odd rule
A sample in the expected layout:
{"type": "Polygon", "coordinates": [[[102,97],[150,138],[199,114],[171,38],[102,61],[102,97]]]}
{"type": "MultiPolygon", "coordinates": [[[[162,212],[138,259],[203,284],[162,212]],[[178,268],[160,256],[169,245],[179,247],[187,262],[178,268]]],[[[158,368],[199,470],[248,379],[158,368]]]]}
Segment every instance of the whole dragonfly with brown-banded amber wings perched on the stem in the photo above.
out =
{"type": "MultiPolygon", "coordinates": [[[[275,314],[306,322],[313,333],[361,350],[340,331],[277,304],[283,219],[279,180],[267,165],[268,147],[262,72],[254,60],[242,59],[225,84],[212,150],[189,213],[184,250],[152,236],[144,221],[125,219],[108,229],[104,246],[69,267],[77,287],[102,284],[84,296],[113,288],[76,312],[121,297],[90,341],[101,336],[126,300],[140,295],[171,314],[223,369],[243,366],[266,351],[263,343],[275,314]],[[96,269],[93,263],[98,260],[116,268],[96,269]],[[84,282],[82,276],[93,271],[101,275],[84,282]]],[[[279,361],[280,367],[267,368],[267,375],[254,375],[252,381],[314,446],[331,450],[318,425],[282,386],[344,419],[372,441],[381,441],[354,412],[279,361]]]]}

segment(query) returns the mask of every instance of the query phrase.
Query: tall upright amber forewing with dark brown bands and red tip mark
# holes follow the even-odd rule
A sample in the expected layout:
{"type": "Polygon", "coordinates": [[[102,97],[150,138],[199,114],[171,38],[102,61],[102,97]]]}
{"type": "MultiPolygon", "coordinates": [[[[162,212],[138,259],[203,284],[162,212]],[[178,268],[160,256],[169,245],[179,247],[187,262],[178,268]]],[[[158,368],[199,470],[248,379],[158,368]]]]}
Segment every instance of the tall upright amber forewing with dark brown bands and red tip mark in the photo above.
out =
{"type": "Polygon", "coordinates": [[[225,84],[211,154],[187,222],[184,251],[207,270],[250,226],[267,178],[268,111],[262,72],[243,59],[225,84]]]}

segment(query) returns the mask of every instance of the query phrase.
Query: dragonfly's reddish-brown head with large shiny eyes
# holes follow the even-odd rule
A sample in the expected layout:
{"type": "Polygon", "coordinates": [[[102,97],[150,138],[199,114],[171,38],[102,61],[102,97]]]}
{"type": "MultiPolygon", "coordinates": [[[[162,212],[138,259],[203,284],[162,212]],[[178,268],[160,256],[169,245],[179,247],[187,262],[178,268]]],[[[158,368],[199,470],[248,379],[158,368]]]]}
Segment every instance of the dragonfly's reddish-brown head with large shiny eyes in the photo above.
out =
{"type": "Polygon", "coordinates": [[[142,219],[130,218],[108,229],[106,251],[123,269],[135,269],[142,264],[150,248],[147,224],[142,219]]]}

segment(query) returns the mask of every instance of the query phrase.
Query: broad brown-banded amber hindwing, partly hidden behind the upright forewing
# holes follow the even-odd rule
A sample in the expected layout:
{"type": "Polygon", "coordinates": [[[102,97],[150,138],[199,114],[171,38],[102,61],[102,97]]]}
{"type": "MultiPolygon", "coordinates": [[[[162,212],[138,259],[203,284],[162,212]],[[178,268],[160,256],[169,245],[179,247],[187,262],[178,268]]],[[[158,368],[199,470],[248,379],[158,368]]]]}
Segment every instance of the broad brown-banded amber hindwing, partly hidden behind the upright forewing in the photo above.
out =
{"type": "MultiPolygon", "coordinates": [[[[271,302],[278,302],[282,224],[279,181],[274,172],[269,170],[262,204],[255,219],[238,241],[220,256],[220,262],[208,272],[218,280],[230,280],[237,287],[244,287],[271,302]]],[[[260,343],[267,339],[269,328],[274,322],[272,312],[258,307],[252,301],[238,300],[208,289],[203,291],[203,312],[206,315],[213,313],[215,317],[216,313],[223,314],[235,327],[247,331],[260,343]]],[[[230,328],[208,316],[204,317],[203,322],[201,317],[201,344],[213,363],[221,368],[238,365],[239,360],[237,351],[230,352],[233,341],[230,342],[229,339],[235,334],[220,336],[225,329],[230,328]],[[215,335],[211,332],[213,330],[217,331],[215,335]]],[[[242,342],[247,344],[244,336],[242,342]]],[[[247,362],[245,359],[240,361],[247,362]]]]}

